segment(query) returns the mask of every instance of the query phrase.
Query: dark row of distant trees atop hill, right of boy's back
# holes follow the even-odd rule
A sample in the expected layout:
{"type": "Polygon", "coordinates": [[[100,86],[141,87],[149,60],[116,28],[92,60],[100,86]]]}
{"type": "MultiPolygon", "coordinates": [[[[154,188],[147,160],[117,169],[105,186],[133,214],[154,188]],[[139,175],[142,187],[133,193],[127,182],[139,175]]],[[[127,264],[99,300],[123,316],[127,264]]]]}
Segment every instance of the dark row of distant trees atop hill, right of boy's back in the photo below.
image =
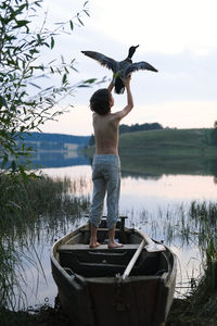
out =
{"type": "MultiPolygon", "coordinates": [[[[164,129],[163,126],[158,123],[151,123],[151,124],[135,124],[131,126],[128,125],[120,125],[119,126],[119,134],[126,134],[126,133],[135,133],[135,131],[144,131],[144,130],[157,130],[157,129],[164,129]]],[[[94,136],[91,135],[89,139],[89,146],[94,145],[94,136]]]]}

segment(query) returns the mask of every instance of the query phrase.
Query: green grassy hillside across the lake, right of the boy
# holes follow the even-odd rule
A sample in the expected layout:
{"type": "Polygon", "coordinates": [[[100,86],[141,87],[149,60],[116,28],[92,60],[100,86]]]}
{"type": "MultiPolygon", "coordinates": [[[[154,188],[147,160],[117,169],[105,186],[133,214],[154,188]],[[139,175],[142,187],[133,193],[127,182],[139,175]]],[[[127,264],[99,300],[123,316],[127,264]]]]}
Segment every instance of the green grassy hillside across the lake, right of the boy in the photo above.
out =
{"type": "Polygon", "coordinates": [[[128,150],[140,155],[170,155],[191,158],[215,155],[214,146],[208,141],[209,129],[163,129],[123,134],[119,141],[120,153],[128,150]]]}

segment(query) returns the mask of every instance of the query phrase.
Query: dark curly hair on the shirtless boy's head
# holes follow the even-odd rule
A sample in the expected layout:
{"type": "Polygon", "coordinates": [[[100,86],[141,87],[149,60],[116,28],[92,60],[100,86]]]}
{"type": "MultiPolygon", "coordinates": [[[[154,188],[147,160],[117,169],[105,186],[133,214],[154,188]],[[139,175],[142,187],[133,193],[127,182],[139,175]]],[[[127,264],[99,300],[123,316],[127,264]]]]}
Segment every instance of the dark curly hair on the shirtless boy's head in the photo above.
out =
{"type": "Polygon", "coordinates": [[[111,92],[107,88],[98,89],[90,98],[90,110],[101,115],[110,112],[111,92]]]}

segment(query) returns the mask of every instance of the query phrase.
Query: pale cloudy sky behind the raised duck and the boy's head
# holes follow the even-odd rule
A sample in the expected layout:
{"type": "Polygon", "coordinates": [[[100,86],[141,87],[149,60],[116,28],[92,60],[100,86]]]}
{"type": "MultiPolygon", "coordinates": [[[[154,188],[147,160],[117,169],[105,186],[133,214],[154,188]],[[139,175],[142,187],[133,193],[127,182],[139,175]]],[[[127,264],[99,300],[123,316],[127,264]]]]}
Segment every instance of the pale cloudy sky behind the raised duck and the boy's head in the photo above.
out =
{"type": "MultiPolygon", "coordinates": [[[[75,16],[82,0],[44,0],[48,25],[75,16]]],[[[81,14],[84,26],[75,24],[72,35],[56,38],[52,55],[75,58],[78,73],[71,83],[112,72],[85,57],[81,50],[101,52],[117,61],[127,57],[130,46],[140,47],[133,62],[146,61],[158,73],[140,71],[131,76],[133,110],[123,124],[157,122],[163,127],[213,127],[217,120],[217,1],[216,0],[90,0],[81,14]]],[[[76,22],[76,21],[74,21],[76,22]]],[[[49,58],[50,59],[50,58],[49,58]]],[[[46,57],[44,57],[46,60],[46,57]]],[[[58,122],[47,122],[41,130],[69,135],[91,135],[91,95],[108,82],[76,89],[67,102],[74,108],[58,122]]],[[[115,95],[113,112],[126,105],[126,93],[115,95]]],[[[62,105],[63,105],[62,104],[62,105]]]]}

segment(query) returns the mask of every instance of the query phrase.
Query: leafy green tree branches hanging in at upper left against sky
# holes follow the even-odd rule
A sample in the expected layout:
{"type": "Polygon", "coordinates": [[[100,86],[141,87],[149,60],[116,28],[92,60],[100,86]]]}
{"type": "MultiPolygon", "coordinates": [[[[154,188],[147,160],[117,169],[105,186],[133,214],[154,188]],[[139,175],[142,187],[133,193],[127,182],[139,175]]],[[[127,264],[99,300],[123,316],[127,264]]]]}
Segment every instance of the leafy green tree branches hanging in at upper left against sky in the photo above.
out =
{"type": "Polygon", "coordinates": [[[0,3],[0,162],[5,168],[11,160],[12,171],[24,173],[17,164],[21,155],[27,155],[30,148],[17,146],[24,133],[39,129],[48,120],[65,112],[52,110],[58,102],[72,95],[75,87],[88,86],[95,82],[88,79],[71,85],[68,75],[75,71],[72,59],[66,63],[52,60],[40,63],[43,49],[52,50],[56,36],[74,29],[74,21],[84,25],[82,14],[89,15],[87,2],[80,13],[67,22],[59,23],[53,30],[46,27],[46,15],[41,27],[33,29],[42,0],[3,0],[0,3]],[[52,77],[52,78],[49,78],[52,77]],[[44,85],[44,79],[46,84],[44,85]],[[56,80],[56,85],[52,85],[56,80]]]}

